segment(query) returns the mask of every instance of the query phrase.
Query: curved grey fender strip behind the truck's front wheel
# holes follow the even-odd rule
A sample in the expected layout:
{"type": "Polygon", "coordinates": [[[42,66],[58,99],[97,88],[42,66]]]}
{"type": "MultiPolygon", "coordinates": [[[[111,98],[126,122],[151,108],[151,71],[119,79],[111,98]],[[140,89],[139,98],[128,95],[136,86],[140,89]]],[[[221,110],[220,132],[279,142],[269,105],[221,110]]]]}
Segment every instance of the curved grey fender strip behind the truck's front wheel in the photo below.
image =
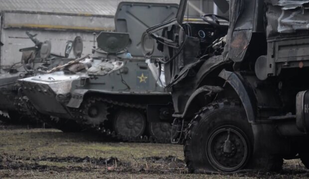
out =
{"type": "Polygon", "coordinates": [[[244,108],[246,111],[246,115],[248,121],[250,123],[255,123],[255,116],[256,116],[256,99],[254,96],[253,91],[250,87],[248,87],[242,80],[242,78],[234,72],[228,72],[226,70],[222,70],[219,74],[219,77],[226,80],[228,83],[238,94],[244,108]]]}

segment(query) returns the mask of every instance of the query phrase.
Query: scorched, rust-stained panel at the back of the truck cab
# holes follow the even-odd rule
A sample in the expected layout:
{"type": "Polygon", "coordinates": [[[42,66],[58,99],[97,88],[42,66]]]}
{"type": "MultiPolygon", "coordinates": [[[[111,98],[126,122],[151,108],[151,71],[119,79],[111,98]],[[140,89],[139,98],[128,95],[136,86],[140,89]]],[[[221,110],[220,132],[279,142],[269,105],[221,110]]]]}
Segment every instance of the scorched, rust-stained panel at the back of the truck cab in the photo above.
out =
{"type": "Polygon", "coordinates": [[[252,33],[263,32],[262,0],[230,0],[230,28],[225,57],[241,62],[247,52],[252,33]]]}

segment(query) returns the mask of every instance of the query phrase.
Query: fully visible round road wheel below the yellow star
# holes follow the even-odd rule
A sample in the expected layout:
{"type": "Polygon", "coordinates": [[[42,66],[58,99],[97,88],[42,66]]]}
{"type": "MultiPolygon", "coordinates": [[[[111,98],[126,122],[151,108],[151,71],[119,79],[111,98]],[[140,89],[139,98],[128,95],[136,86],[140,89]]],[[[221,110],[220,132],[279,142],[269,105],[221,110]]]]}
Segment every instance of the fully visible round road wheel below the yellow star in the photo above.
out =
{"type": "Polygon", "coordinates": [[[114,119],[114,130],[120,136],[136,138],[143,135],[146,128],[146,118],[137,109],[121,109],[114,119]]]}

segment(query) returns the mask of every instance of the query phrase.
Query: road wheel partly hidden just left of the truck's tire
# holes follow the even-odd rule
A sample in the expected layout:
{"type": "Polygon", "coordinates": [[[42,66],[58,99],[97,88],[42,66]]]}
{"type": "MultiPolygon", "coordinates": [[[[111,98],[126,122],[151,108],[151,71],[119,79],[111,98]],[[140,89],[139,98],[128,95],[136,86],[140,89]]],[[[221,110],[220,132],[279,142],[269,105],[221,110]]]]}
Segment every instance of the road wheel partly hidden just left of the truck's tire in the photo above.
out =
{"type": "Polygon", "coordinates": [[[171,137],[172,125],[168,122],[149,123],[149,133],[155,141],[160,143],[169,143],[171,137]]]}

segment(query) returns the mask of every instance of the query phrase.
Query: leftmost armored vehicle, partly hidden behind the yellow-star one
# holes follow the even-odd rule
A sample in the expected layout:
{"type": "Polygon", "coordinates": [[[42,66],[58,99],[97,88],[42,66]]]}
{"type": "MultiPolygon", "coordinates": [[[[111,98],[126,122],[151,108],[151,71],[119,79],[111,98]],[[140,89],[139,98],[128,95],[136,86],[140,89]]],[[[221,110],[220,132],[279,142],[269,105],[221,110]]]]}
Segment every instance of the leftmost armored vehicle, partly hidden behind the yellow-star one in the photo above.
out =
{"type": "MultiPolygon", "coordinates": [[[[29,111],[24,103],[24,100],[27,99],[21,93],[20,85],[17,84],[18,79],[44,73],[48,69],[71,61],[72,58],[66,57],[69,56],[73,47],[75,51],[82,50],[82,48],[76,48],[77,42],[81,40],[80,37],[77,37],[74,42],[67,42],[65,56],[51,54],[50,41],[40,42],[35,38],[36,35],[32,35],[29,32],[26,32],[26,34],[35,46],[20,49],[19,51],[22,52],[21,62],[13,64],[10,69],[2,72],[0,75],[0,110],[2,111],[1,119],[5,122],[25,122],[26,118],[31,120],[31,115],[29,115],[29,111]],[[3,112],[7,112],[9,118],[5,117],[3,112]],[[23,118],[23,121],[20,121],[21,118],[23,118]]],[[[27,122],[29,121],[27,120],[27,122]]]]}

